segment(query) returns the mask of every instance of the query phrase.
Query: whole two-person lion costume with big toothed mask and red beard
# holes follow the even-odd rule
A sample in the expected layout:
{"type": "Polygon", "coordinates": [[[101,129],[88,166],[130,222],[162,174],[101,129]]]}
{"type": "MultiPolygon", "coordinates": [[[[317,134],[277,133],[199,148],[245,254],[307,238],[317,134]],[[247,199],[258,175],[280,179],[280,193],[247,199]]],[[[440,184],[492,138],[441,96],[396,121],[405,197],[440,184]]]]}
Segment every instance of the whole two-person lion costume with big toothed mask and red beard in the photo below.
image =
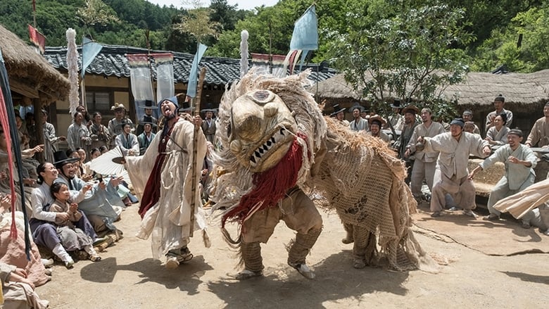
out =
{"type": "Polygon", "coordinates": [[[260,242],[267,242],[279,220],[297,232],[288,246],[289,265],[313,279],[305,257],[322,229],[316,206],[335,209],[354,227],[355,260],[416,268],[424,252],[410,231],[417,205],[403,182],[402,161],[381,140],[324,118],[306,90],[307,76],[251,71],[221,100],[221,151],[214,158],[220,172],[211,198],[224,209],[225,239],[240,249],[245,269],[236,279],[262,275],[260,242]],[[239,224],[236,240],[225,229],[227,221],[239,224]]]}

